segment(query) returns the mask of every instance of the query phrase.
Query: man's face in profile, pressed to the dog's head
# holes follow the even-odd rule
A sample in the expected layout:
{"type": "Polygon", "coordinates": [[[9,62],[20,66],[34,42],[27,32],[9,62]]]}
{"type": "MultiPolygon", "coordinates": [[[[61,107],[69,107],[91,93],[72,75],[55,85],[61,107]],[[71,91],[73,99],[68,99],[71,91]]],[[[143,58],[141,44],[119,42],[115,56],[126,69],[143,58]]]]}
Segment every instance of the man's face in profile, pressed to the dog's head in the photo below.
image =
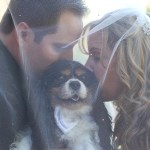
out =
{"type": "Polygon", "coordinates": [[[55,33],[46,34],[39,43],[34,41],[34,33],[24,42],[31,69],[41,71],[57,60],[73,58],[72,49],[75,43],[66,45],[79,38],[83,28],[82,18],[65,11],[60,15],[57,26],[55,33]]]}

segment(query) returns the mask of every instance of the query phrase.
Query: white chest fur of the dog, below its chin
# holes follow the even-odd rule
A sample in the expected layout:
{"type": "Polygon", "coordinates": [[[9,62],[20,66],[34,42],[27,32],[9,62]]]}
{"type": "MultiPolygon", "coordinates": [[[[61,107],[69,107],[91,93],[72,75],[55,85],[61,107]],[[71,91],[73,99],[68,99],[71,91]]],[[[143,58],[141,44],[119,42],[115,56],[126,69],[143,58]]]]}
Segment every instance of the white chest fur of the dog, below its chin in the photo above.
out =
{"type": "Polygon", "coordinates": [[[102,150],[99,146],[98,126],[89,116],[91,109],[88,105],[75,111],[61,109],[64,116],[78,121],[70,132],[61,135],[61,140],[68,141],[71,150],[102,150]]]}

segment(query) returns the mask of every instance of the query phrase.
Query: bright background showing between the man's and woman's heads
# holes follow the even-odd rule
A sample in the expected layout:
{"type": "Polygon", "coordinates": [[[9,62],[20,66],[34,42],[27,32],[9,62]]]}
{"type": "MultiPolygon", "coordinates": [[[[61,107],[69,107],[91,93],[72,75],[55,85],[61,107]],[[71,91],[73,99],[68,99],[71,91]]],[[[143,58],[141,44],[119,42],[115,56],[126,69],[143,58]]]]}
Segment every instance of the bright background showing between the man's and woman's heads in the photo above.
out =
{"type": "MultiPolygon", "coordinates": [[[[90,21],[100,19],[106,13],[125,7],[135,7],[142,10],[146,10],[148,5],[150,5],[150,0],[85,0],[86,5],[88,6],[90,13],[84,18],[84,25],[90,21]]],[[[79,51],[78,45],[74,47],[74,59],[85,63],[87,56],[83,55],[79,51]]]]}

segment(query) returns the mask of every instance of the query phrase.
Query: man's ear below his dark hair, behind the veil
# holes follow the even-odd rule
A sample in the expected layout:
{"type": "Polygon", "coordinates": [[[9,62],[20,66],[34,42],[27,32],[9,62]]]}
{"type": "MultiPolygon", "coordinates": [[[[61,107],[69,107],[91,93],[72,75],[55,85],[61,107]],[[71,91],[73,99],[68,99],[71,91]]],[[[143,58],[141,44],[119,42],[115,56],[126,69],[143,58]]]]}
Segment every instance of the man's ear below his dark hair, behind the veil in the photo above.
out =
{"type": "Polygon", "coordinates": [[[27,42],[28,40],[31,40],[31,38],[33,38],[33,31],[25,22],[20,22],[16,26],[16,32],[17,32],[18,38],[21,38],[21,40],[23,41],[27,42]]]}

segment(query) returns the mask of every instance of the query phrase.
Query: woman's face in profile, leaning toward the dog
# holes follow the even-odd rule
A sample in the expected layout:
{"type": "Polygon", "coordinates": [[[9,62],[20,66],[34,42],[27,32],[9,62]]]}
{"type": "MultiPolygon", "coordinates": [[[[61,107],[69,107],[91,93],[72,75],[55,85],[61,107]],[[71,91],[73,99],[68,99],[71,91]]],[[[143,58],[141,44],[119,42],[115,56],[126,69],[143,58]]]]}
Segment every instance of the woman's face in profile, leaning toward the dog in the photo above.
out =
{"type": "Polygon", "coordinates": [[[101,96],[105,101],[118,99],[123,91],[123,84],[117,74],[117,56],[114,55],[110,65],[112,50],[106,45],[103,49],[102,33],[90,35],[88,39],[89,58],[86,67],[92,70],[102,83],[101,96]],[[108,68],[108,71],[107,71],[108,68]],[[106,76],[105,76],[106,75],[106,76]]]}

